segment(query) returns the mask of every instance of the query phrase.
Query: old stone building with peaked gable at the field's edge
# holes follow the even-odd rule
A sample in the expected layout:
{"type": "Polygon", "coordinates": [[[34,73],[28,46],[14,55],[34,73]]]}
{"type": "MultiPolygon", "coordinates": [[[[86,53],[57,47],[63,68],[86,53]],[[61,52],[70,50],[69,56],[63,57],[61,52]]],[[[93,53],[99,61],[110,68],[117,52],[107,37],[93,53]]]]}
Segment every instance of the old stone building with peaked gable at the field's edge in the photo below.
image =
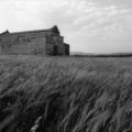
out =
{"type": "Polygon", "coordinates": [[[58,28],[47,30],[0,34],[0,54],[8,55],[69,55],[69,45],[64,43],[58,28]]]}

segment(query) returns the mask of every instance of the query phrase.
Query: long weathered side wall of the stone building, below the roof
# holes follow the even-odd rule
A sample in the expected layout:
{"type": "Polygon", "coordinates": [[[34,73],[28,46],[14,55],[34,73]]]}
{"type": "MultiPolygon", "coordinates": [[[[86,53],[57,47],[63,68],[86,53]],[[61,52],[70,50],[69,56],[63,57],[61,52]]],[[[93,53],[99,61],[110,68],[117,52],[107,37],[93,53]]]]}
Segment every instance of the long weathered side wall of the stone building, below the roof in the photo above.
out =
{"type": "Polygon", "coordinates": [[[1,54],[45,54],[45,33],[18,33],[2,37],[1,54]]]}

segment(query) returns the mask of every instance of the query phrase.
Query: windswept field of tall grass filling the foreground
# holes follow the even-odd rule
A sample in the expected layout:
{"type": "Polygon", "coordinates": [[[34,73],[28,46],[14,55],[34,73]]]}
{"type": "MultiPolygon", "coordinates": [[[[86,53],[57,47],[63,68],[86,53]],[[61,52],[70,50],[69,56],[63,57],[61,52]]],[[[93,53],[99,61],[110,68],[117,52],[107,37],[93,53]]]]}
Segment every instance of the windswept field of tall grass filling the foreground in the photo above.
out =
{"type": "Polygon", "coordinates": [[[0,56],[0,132],[131,132],[132,57],[0,56]]]}

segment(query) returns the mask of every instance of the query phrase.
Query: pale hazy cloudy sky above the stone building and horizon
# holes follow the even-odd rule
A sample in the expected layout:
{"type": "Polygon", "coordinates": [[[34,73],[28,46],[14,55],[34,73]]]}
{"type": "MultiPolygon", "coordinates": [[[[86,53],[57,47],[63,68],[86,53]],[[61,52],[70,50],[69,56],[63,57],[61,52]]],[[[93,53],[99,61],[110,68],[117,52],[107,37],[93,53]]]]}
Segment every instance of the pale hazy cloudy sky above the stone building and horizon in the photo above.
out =
{"type": "Polygon", "coordinates": [[[0,32],[55,24],[72,51],[132,52],[132,0],[0,0],[0,32]]]}

